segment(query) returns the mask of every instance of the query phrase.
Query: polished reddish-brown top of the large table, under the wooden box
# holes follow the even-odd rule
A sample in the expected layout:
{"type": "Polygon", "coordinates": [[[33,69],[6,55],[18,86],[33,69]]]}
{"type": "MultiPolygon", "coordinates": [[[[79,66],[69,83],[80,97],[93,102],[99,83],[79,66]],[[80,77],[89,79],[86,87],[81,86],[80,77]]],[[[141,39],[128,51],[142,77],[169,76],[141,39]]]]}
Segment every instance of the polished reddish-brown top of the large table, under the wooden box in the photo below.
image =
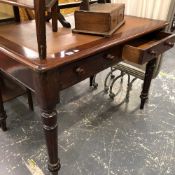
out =
{"type": "MultiPolygon", "coordinates": [[[[68,17],[73,21],[73,16],[68,17]]],[[[47,29],[47,59],[40,60],[37,52],[35,21],[0,26],[0,51],[34,70],[48,70],[72,61],[94,55],[112,46],[140,37],[167,25],[165,21],[133,16],[125,17],[125,24],[111,37],[72,33],[71,29],[59,27],[52,32],[47,29]]]]}

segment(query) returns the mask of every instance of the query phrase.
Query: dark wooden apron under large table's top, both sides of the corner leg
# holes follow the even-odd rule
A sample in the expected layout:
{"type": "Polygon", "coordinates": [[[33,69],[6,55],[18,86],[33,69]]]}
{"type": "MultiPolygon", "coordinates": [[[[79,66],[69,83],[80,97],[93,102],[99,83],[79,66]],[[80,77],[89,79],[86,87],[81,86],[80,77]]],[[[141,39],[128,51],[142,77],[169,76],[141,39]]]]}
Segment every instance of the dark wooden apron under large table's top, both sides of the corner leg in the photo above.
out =
{"type": "MultiPolygon", "coordinates": [[[[53,72],[54,76],[58,77],[58,91],[60,91],[117,64],[121,61],[121,53],[121,46],[115,46],[98,54],[49,70],[49,72],[53,72]]],[[[6,76],[35,92],[33,75],[40,72],[33,71],[4,53],[0,54],[0,70],[6,76]]]]}

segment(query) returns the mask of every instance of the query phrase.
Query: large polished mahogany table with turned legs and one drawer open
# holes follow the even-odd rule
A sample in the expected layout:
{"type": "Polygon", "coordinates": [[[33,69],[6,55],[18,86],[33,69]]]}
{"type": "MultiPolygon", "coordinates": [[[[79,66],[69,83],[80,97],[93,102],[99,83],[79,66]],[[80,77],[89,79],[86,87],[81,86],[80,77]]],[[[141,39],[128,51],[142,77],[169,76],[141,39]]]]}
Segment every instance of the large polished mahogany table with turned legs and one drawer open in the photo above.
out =
{"type": "MultiPolygon", "coordinates": [[[[59,92],[114,65],[121,58],[147,63],[141,108],[148,96],[158,55],[173,47],[175,36],[162,32],[164,21],[126,16],[126,23],[109,38],[74,34],[71,29],[47,29],[47,59],[38,59],[35,23],[0,26],[0,71],[36,95],[49,155],[49,170],[60,168],[57,147],[59,92]]],[[[2,101],[0,95],[0,101],[2,101]]],[[[0,105],[0,121],[6,129],[6,113],[0,105]]]]}

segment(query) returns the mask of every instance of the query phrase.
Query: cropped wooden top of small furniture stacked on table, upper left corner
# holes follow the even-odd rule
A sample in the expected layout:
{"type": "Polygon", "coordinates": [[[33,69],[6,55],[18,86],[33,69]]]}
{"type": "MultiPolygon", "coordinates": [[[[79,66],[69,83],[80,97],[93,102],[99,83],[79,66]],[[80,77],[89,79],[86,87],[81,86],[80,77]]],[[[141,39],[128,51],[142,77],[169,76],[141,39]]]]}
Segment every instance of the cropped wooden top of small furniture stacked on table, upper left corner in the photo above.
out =
{"type": "MultiPolygon", "coordinates": [[[[46,9],[52,7],[57,0],[45,0],[46,9]]],[[[0,0],[2,3],[10,4],[13,6],[20,6],[29,9],[34,9],[34,0],[0,0]]]]}

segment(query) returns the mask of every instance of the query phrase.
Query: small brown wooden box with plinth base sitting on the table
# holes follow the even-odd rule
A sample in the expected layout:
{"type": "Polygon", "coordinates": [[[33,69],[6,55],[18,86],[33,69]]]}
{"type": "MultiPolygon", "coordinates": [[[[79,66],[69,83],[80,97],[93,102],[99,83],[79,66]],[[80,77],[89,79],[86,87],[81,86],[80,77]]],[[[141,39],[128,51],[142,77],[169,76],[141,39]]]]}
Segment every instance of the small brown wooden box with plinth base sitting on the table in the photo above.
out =
{"type": "Polygon", "coordinates": [[[92,4],[88,11],[74,13],[73,32],[110,36],[124,24],[125,4],[92,4]]]}

